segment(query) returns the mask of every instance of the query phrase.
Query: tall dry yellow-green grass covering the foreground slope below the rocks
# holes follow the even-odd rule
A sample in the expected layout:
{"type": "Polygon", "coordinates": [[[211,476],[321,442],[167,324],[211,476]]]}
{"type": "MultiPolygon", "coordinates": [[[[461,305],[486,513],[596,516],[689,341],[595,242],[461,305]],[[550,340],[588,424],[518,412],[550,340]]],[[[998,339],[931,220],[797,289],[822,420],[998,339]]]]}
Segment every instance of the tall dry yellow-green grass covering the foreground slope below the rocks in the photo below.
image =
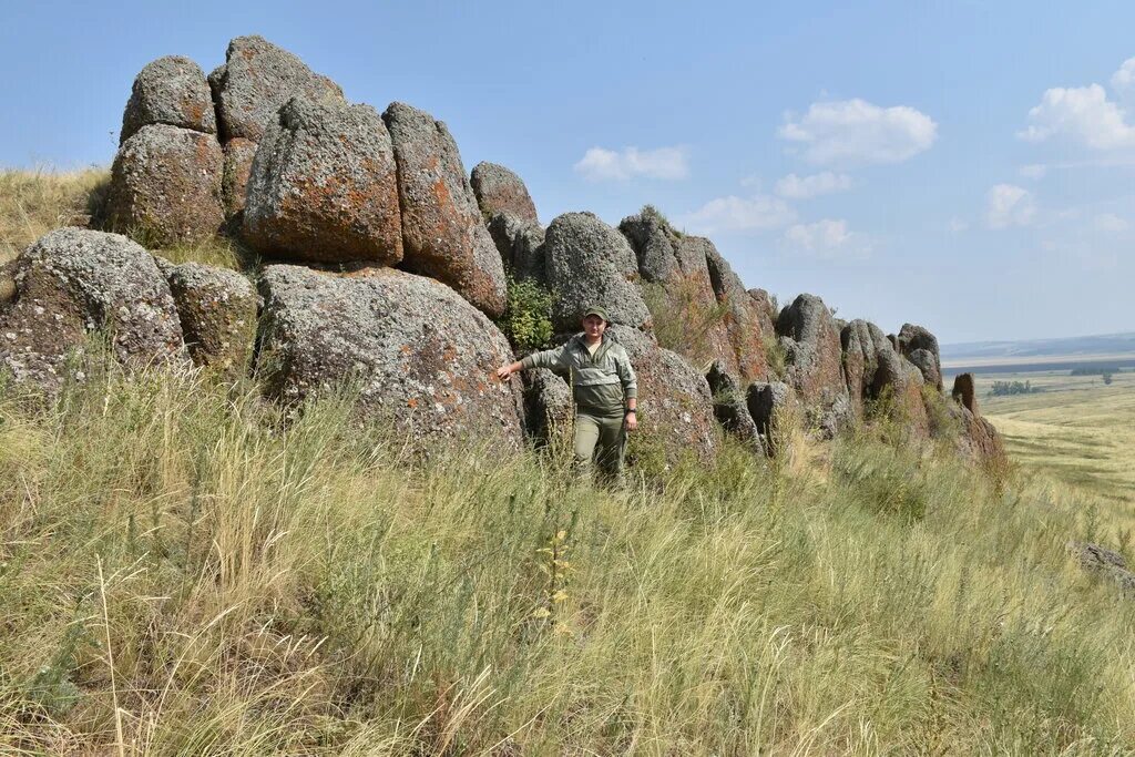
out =
{"type": "Polygon", "coordinates": [[[1135,748],[1135,612],[1051,493],[866,437],[612,493],[350,418],[196,373],[0,393],[0,750],[1135,748]]]}

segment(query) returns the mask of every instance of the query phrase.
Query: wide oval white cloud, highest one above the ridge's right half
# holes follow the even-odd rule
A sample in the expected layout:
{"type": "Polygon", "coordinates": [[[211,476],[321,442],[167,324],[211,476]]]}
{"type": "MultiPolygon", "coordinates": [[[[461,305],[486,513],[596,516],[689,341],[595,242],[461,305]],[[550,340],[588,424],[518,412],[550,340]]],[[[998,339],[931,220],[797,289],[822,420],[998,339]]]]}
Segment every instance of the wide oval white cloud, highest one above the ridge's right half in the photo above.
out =
{"type": "Polygon", "coordinates": [[[777,135],[804,145],[817,165],[896,163],[928,150],[938,124],[908,106],[880,108],[864,100],[814,102],[801,118],[785,115],[777,135]]]}

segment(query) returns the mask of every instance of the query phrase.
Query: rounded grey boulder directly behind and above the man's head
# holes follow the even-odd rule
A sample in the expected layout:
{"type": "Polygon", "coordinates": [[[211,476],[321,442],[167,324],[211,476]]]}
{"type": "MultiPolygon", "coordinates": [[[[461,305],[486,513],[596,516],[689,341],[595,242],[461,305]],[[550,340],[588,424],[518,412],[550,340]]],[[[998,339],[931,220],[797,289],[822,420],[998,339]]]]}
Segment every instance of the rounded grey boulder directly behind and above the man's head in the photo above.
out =
{"type": "Polygon", "coordinates": [[[634,252],[619,232],[594,213],[555,218],[545,235],[544,250],[548,284],[558,295],[552,313],[556,330],[579,328],[589,305],[606,308],[615,323],[636,328],[649,323],[650,312],[634,283],[634,252]]]}

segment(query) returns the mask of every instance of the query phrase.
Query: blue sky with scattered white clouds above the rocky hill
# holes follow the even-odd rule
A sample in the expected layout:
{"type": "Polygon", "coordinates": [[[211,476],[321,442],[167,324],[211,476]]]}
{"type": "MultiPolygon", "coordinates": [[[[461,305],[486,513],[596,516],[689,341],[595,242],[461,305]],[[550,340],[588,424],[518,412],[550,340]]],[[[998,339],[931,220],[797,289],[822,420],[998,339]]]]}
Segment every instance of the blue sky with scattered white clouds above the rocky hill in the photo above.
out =
{"type": "Polygon", "coordinates": [[[1135,3],[0,3],[2,168],[109,165],[146,62],[261,34],[446,121],[543,222],[654,204],[782,304],[945,343],[1135,330],[1135,3]]]}

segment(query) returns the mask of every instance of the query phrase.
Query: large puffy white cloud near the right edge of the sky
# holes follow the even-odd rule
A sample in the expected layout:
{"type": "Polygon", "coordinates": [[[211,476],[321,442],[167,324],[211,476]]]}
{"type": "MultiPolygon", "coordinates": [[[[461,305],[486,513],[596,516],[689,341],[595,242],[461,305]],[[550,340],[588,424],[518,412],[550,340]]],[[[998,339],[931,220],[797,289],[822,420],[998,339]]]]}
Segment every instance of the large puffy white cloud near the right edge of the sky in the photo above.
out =
{"type": "Polygon", "coordinates": [[[1062,136],[1093,150],[1135,146],[1135,127],[1126,111],[1108,100],[1099,84],[1048,90],[1041,104],[1028,111],[1028,128],[1017,132],[1027,142],[1062,136]]]}

